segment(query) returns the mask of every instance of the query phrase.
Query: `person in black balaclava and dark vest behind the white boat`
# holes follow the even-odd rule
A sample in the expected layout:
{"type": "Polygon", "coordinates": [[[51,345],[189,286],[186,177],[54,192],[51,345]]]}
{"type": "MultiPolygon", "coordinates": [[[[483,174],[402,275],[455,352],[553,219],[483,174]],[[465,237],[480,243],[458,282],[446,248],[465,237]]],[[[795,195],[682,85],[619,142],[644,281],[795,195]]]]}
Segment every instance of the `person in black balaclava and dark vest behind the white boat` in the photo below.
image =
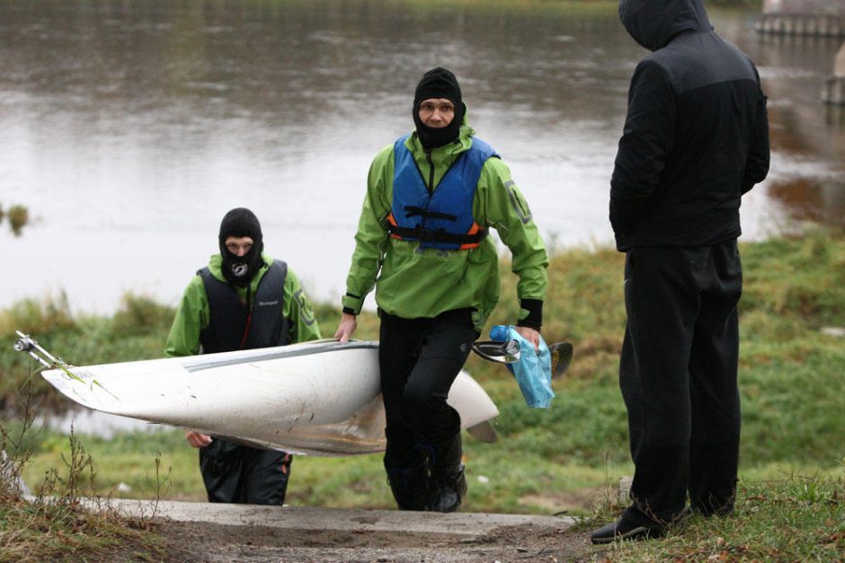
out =
{"type": "MultiPolygon", "coordinates": [[[[166,356],[192,356],[320,339],[311,303],[293,270],[263,252],[261,224],[238,207],[220,223],[219,254],[182,295],[166,356]]],[[[209,502],[281,505],[288,488],[288,453],[253,448],[188,431],[200,449],[209,502]]]]}

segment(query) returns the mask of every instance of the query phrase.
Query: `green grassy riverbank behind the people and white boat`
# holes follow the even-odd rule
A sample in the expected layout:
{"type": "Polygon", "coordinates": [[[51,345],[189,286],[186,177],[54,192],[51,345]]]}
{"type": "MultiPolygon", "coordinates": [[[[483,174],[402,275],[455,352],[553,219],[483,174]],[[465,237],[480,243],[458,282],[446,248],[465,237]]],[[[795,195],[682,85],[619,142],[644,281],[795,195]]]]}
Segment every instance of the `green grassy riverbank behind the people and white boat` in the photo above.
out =
{"type": "MultiPolygon", "coordinates": [[[[693,521],[668,541],[614,548],[611,559],[845,557],[845,339],[829,330],[845,327],[845,236],[814,231],[743,244],[741,251],[745,292],[738,517],[693,521]]],[[[465,440],[470,482],[466,510],[565,512],[603,521],[618,509],[613,488],[620,476],[632,471],[617,383],[625,323],[621,272],[622,257],[616,251],[555,253],[544,335],[548,341],[572,341],[575,359],[565,379],[556,382],[552,409],[527,409],[502,366],[470,359],[468,371],[484,385],[501,415],[495,422],[496,444],[465,440]]],[[[510,278],[506,274],[494,322],[515,314],[510,278]]],[[[317,309],[324,332],[330,334],[337,309],[317,309]]],[[[172,315],[169,308],[138,296],[127,296],[111,318],[74,315],[62,299],[33,300],[0,312],[0,341],[11,345],[15,329],[31,332],[76,365],[157,357],[172,315]]],[[[372,315],[362,319],[357,336],[375,338],[372,315]]],[[[20,404],[28,378],[36,410],[67,404],[39,376],[31,377],[32,367],[11,346],[0,347],[0,396],[5,406],[20,404]]],[[[19,426],[13,420],[5,425],[13,435],[19,426]]],[[[22,447],[29,459],[22,473],[31,487],[44,483],[50,469],[58,469],[59,475],[67,472],[62,462],[63,455],[67,458],[67,436],[47,431],[29,431],[26,436],[22,447]]],[[[92,460],[89,492],[197,500],[204,496],[196,451],[187,447],[179,431],[76,439],[92,460]],[[119,492],[119,486],[129,491],[119,492]]],[[[378,455],[296,459],[288,502],[393,506],[378,455]]],[[[0,547],[3,541],[0,535],[0,547]]]]}

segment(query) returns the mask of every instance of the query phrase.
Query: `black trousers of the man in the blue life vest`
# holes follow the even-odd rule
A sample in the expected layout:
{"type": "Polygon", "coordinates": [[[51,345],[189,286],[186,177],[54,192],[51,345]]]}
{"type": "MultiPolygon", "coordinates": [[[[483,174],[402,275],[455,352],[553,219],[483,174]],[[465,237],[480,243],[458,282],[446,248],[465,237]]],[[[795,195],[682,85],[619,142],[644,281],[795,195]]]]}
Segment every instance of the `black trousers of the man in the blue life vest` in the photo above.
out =
{"type": "Polygon", "coordinates": [[[470,315],[462,309],[433,319],[403,319],[379,312],[388,469],[413,467],[460,434],[460,416],[446,398],[478,338],[470,315]]]}

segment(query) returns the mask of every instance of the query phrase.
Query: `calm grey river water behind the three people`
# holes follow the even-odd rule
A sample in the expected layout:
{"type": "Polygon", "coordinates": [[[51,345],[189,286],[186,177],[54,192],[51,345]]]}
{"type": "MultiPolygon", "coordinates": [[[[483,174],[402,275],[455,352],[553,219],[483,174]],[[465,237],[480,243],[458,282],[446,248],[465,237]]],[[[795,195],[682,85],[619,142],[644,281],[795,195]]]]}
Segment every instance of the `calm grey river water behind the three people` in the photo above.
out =
{"type": "MultiPolygon", "coordinates": [[[[840,41],[710,12],[770,99],[772,172],[743,202],[744,238],[841,224],[845,125],[819,101],[840,41]]],[[[431,66],[458,75],[548,242],[610,243],[644,55],[615,2],[0,0],[0,206],[32,217],[19,237],[0,224],[0,309],[61,291],[84,312],[126,291],[178,303],[241,206],[312,298],[338,299],[369,162],[412,127],[431,66]]]]}

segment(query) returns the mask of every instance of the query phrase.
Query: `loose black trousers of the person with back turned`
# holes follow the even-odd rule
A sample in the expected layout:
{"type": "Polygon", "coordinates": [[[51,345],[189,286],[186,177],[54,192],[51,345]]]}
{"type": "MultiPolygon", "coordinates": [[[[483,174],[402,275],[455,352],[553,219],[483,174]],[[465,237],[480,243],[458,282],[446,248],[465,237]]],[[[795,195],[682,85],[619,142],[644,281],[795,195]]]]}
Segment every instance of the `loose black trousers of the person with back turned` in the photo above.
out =
{"type": "Polygon", "coordinates": [[[619,383],[636,467],[629,510],[671,522],[688,494],[707,515],[733,509],[742,287],[735,240],[628,251],[619,383]]]}

